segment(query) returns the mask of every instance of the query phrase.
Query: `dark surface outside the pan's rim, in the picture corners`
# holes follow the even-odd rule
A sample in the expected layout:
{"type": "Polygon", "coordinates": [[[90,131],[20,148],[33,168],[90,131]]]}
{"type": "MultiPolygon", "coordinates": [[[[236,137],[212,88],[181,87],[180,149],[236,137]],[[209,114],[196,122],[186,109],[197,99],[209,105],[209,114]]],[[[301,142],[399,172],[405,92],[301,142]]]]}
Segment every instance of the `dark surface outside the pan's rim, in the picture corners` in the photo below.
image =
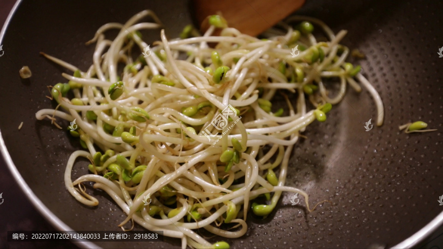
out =
{"type": "MultiPolygon", "coordinates": [[[[3,26],[15,0],[1,0],[0,27],[3,26]]],[[[7,48],[3,47],[5,53],[7,48]]],[[[1,58],[0,58],[1,60],[1,58]]],[[[7,243],[7,231],[12,230],[54,230],[54,228],[34,209],[31,202],[17,186],[14,178],[0,156],[0,193],[4,202],[0,206],[0,248],[77,248],[70,242],[58,243],[7,243]]],[[[443,227],[425,240],[417,248],[443,248],[443,227]],[[440,236],[440,237],[439,237],[440,236]]]]}

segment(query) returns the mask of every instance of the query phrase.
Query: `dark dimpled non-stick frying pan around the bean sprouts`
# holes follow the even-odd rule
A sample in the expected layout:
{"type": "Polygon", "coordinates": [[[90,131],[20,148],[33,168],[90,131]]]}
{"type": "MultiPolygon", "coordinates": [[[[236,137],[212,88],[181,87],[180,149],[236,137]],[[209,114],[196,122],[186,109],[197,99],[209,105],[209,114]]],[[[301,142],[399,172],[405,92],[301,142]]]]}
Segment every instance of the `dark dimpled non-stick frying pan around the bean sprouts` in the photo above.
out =
{"type": "MultiPolygon", "coordinates": [[[[36,208],[57,229],[117,230],[123,212],[99,190],[95,208],[78,203],[65,189],[63,172],[77,141],[35,112],[54,107],[47,85],[64,82],[65,70],[43,51],[83,70],[92,63],[94,45],[84,43],[98,27],[125,22],[142,9],[154,10],[169,37],[192,22],[188,1],[21,1],[3,30],[0,44],[0,148],[12,174],[36,208]],[[7,50],[6,50],[7,48],[7,50]],[[28,65],[29,80],[19,77],[28,65]],[[19,130],[18,125],[23,122],[19,130]]],[[[443,222],[437,200],[443,194],[442,109],[439,68],[443,58],[442,1],[310,0],[296,14],[323,20],[333,31],[348,30],[342,41],[366,55],[355,61],[374,84],[385,106],[385,122],[365,131],[378,113],[367,91],[348,89],[325,123],[310,125],[295,146],[287,184],[304,189],[310,201],[329,200],[309,213],[292,206],[284,194],[265,219],[248,217],[249,231],[226,240],[232,248],[412,247],[443,222]],[[432,133],[405,134],[398,125],[421,120],[432,133]],[[399,244],[402,243],[402,244],[399,244]],[[397,246],[396,246],[397,245],[397,246]]],[[[143,32],[151,44],[159,31],[143,32]]],[[[375,123],[375,122],[373,122],[375,123]]],[[[62,123],[67,127],[69,124],[62,123]]],[[[77,163],[73,179],[87,172],[77,163]]],[[[139,226],[135,229],[140,230],[139,226]]],[[[211,238],[217,241],[220,238],[211,238]]],[[[171,248],[165,242],[83,242],[81,247],[171,248]]]]}

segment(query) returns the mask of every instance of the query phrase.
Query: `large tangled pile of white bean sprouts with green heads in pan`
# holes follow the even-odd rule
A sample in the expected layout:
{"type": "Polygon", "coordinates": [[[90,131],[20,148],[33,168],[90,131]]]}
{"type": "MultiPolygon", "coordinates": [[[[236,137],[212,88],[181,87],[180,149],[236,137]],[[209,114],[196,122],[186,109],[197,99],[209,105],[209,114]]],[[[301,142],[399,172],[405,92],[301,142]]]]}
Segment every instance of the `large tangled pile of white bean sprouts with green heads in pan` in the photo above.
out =
{"type": "Polygon", "coordinates": [[[82,185],[94,182],[127,215],[120,227],[132,220],[181,239],[183,248],[228,248],[209,243],[197,229],[241,237],[247,212],[266,217],[283,191],[299,193],[311,212],[308,194],[285,185],[288,161],[300,132],[325,121],[348,84],[361,91],[355,79],[376,102],[377,125],[383,119],[379,94],[359,66],[345,61],[349,49],[339,42],[346,31],[334,34],[319,20],[291,17],[259,39],[227,27],[220,16],[209,22],[202,36],[189,37],[194,32],[187,27],[181,38],[168,39],[161,30],[154,44],[139,32],[162,27],[152,11],[105,24],[88,42],[96,45],[87,71],[42,53],[73,72],[63,73],[68,83],[50,87],[57,108],[36,113],[58,127],[56,118],[70,122],[69,132],[85,149],[68,159],[67,190],[96,206],[82,185]],[[154,21],[141,22],[147,17],[154,21]],[[314,25],[328,41],[317,42],[314,25]],[[114,29],[118,35],[106,39],[114,29]],[[134,57],[137,49],[143,54],[134,57]],[[334,97],[326,78],[340,82],[334,97]],[[277,98],[287,108],[276,110],[277,98]],[[72,181],[79,157],[90,160],[90,173],[72,181]]]}

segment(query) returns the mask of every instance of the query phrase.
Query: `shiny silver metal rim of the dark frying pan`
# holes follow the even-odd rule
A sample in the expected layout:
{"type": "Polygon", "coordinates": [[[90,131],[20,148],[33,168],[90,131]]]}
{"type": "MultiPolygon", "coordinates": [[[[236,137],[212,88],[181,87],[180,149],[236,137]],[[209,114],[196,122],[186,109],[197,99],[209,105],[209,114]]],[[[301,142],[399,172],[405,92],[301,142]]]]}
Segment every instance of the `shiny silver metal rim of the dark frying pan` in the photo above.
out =
{"type": "MultiPolygon", "coordinates": [[[[0,44],[4,39],[4,35],[12,20],[12,17],[14,16],[15,12],[19,8],[22,1],[23,0],[17,0],[14,3],[14,6],[12,7],[11,11],[9,12],[8,17],[6,18],[6,21],[0,31],[0,44]]],[[[64,223],[60,218],[58,218],[54,213],[52,213],[51,210],[49,210],[41,202],[41,200],[33,193],[32,189],[25,182],[20,172],[18,171],[17,167],[15,166],[14,162],[12,161],[11,156],[9,155],[9,152],[3,140],[1,129],[0,129],[0,151],[1,155],[4,158],[4,162],[6,163],[10,173],[14,177],[14,180],[19,185],[23,193],[26,195],[28,200],[35,207],[35,209],[37,209],[37,211],[49,223],[51,223],[51,225],[53,225],[55,229],[59,231],[73,231],[72,228],[70,228],[66,223],[64,223]]],[[[426,237],[431,235],[435,230],[437,230],[442,225],[443,225],[443,211],[438,216],[433,218],[429,223],[427,223],[424,227],[422,227],[420,230],[418,230],[417,232],[415,232],[414,234],[412,234],[410,237],[406,238],[402,242],[398,243],[397,245],[393,246],[392,248],[412,248],[416,246],[418,243],[422,242],[426,237]]],[[[100,248],[95,243],[89,241],[85,242],[85,241],[71,240],[71,242],[73,242],[80,248],[88,248],[88,249],[100,248]]]]}

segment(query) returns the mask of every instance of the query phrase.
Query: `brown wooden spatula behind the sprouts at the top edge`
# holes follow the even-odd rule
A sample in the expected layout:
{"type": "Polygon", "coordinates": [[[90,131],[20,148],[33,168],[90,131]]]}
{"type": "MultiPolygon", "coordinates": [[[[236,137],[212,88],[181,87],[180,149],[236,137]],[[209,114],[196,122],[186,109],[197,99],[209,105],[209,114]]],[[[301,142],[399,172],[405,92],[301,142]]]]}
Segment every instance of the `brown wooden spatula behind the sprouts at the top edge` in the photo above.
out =
{"type": "MultiPolygon", "coordinates": [[[[193,0],[198,24],[221,12],[229,27],[256,36],[299,9],[305,0],[193,0]]],[[[204,28],[203,28],[204,29],[204,28]]]]}

